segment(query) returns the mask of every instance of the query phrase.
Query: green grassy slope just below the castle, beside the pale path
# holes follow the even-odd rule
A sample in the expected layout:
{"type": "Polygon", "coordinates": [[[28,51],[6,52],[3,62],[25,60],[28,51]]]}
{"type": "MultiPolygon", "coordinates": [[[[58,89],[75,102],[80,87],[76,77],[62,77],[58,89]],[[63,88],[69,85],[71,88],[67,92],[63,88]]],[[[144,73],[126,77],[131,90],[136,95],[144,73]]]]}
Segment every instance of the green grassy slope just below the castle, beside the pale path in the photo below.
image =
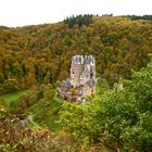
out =
{"type": "MultiPolygon", "coordinates": [[[[28,112],[33,115],[34,122],[41,127],[48,127],[52,134],[62,129],[62,124],[59,122],[64,102],[56,98],[47,101],[42,99],[31,106],[28,112]]],[[[30,124],[29,124],[30,125],[30,124]]],[[[34,125],[34,124],[31,124],[34,125]]]]}

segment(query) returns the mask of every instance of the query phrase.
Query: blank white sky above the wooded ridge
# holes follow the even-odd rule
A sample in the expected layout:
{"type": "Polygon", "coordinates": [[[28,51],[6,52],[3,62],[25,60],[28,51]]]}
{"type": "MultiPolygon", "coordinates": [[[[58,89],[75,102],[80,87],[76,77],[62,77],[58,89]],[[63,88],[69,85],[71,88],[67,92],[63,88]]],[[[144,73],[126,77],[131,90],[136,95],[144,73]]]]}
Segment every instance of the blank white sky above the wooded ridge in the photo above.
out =
{"type": "Polygon", "coordinates": [[[152,0],[0,0],[0,25],[54,23],[76,14],[152,14],[152,0]]]}

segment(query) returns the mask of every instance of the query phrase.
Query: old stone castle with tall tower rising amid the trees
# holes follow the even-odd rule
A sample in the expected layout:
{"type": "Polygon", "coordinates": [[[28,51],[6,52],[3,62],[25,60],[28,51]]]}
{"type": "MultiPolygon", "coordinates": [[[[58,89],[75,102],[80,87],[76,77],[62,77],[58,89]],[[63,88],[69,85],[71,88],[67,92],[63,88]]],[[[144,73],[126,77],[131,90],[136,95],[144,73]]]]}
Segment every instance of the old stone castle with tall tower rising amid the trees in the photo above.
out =
{"type": "Polygon", "coordinates": [[[72,58],[71,76],[58,88],[58,97],[67,101],[84,102],[96,91],[96,60],[92,55],[72,58]]]}

